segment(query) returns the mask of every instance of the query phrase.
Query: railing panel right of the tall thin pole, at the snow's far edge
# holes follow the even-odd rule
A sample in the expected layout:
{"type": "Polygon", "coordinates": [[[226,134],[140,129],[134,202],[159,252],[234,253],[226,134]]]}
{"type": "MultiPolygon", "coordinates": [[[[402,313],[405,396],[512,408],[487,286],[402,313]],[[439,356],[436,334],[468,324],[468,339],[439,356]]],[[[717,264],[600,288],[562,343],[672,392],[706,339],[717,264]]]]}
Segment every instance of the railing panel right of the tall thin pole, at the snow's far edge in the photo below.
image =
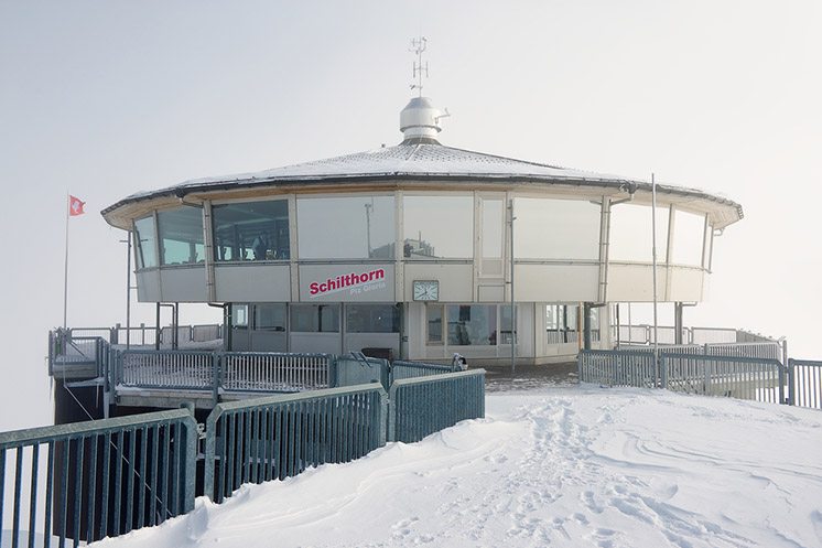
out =
{"type": "Polygon", "coordinates": [[[775,358],[663,353],[660,374],[672,391],[785,402],[786,368],[775,358]]]}

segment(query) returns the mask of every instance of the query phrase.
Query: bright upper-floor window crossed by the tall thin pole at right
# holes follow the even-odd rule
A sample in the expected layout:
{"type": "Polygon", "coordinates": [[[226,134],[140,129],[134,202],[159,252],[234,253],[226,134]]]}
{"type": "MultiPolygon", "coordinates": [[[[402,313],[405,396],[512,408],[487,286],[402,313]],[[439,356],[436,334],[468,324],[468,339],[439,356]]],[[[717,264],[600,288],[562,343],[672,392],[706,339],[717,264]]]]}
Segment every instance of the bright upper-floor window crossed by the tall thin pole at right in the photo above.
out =
{"type": "MultiPolygon", "coordinates": [[[[668,255],[668,207],[657,207],[657,260],[668,255]]],[[[609,260],[651,262],[653,232],[651,207],[618,204],[610,209],[609,260]]]]}

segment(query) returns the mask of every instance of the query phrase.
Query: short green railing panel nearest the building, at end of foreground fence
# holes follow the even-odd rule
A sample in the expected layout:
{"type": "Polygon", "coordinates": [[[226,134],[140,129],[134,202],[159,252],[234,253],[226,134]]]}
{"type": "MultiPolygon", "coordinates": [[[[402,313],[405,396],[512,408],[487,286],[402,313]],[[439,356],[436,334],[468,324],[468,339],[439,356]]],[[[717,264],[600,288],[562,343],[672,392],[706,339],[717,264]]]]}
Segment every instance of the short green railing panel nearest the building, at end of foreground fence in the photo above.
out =
{"type": "Polygon", "coordinates": [[[388,439],[411,443],[466,419],[485,417],[485,370],[396,380],[388,439]]]}

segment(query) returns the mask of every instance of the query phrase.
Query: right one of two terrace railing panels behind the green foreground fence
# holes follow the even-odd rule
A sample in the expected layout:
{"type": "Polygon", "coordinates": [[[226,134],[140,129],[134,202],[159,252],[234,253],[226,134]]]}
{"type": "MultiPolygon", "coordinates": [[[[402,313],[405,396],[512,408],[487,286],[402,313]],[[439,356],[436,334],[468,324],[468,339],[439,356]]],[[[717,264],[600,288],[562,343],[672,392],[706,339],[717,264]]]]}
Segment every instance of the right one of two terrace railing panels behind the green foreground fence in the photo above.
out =
{"type": "Polygon", "coordinates": [[[329,388],[334,356],[227,352],[220,354],[220,387],[229,391],[303,391],[329,388]]]}

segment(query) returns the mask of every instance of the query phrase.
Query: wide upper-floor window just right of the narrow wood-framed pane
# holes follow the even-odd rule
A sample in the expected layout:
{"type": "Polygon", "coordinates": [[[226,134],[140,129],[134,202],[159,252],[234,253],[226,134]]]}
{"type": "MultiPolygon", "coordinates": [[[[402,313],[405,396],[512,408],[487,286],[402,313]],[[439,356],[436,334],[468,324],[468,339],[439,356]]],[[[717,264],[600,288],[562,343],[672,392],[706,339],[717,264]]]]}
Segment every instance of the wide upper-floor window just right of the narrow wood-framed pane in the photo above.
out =
{"type": "Polygon", "coordinates": [[[598,204],[587,201],[516,198],[515,257],[598,259],[601,212],[598,204]]]}

